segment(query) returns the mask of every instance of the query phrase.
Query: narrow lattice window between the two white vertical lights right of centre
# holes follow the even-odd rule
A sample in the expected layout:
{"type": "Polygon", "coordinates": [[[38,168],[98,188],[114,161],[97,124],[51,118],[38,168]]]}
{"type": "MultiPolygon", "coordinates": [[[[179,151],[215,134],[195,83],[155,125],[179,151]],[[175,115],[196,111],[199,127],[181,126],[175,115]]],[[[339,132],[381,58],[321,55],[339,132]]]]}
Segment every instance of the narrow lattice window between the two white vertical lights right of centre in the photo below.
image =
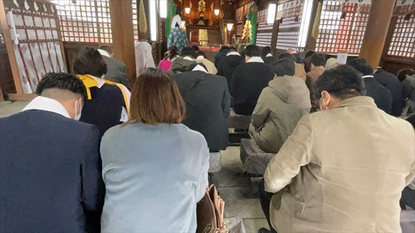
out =
{"type": "MultiPolygon", "coordinates": [[[[295,3],[291,1],[289,4],[295,3]]],[[[287,3],[286,3],[287,4],[287,3]]],[[[282,19],[279,23],[277,46],[279,50],[288,50],[288,48],[294,48],[295,50],[302,52],[304,48],[298,46],[299,40],[299,28],[302,21],[302,6],[294,6],[284,9],[282,12],[282,19]]]]}

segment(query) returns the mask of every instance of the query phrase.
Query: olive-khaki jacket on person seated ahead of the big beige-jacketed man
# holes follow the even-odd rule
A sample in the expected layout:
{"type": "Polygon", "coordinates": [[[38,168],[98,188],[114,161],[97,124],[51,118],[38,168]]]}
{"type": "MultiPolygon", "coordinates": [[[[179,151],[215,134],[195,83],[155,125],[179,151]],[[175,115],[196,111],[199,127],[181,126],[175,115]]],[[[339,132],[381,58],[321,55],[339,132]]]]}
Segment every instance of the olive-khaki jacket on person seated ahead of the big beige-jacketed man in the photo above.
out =
{"type": "Polygon", "coordinates": [[[275,77],[259,95],[250,136],[264,152],[277,153],[310,108],[310,93],[302,79],[275,77]]]}

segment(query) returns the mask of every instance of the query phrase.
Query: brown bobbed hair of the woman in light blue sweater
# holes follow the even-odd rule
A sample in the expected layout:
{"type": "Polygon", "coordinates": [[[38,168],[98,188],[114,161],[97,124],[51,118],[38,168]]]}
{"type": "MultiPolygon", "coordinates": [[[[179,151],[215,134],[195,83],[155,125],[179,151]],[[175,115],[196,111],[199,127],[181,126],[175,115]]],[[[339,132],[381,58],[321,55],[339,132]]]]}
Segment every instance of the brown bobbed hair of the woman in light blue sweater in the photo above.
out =
{"type": "Polygon", "coordinates": [[[127,123],[176,124],[183,121],[186,113],[176,82],[158,68],[147,68],[138,76],[130,105],[127,123]]]}

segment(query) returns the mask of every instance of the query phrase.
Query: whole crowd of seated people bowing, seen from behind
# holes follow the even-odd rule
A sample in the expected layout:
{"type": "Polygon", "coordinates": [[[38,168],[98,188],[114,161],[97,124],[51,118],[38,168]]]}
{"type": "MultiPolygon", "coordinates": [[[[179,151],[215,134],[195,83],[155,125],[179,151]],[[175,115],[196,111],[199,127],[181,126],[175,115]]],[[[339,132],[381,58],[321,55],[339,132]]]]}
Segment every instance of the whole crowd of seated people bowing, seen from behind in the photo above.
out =
{"type": "Polygon", "coordinates": [[[231,111],[275,154],[259,232],[400,232],[400,209],[415,208],[414,70],[196,50],[169,48],[132,88],[107,46],[46,74],[0,119],[0,232],[195,232],[231,111]]]}

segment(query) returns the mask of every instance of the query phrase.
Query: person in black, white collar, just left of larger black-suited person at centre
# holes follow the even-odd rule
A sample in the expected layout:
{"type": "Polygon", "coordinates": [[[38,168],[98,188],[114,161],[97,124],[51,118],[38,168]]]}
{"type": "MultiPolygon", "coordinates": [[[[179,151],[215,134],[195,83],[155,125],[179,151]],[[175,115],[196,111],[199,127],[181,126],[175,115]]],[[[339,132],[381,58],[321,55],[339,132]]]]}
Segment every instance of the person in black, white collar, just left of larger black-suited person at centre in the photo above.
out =
{"type": "Polygon", "coordinates": [[[228,81],[228,88],[230,87],[230,81],[232,80],[232,74],[237,68],[238,65],[245,63],[245,59],[237,52],[237,49],[234,47],[228,48],[226,52],[226,57],[223,59],[222,63],[219,64],[217,75],[223,76],[228,81]]]}

